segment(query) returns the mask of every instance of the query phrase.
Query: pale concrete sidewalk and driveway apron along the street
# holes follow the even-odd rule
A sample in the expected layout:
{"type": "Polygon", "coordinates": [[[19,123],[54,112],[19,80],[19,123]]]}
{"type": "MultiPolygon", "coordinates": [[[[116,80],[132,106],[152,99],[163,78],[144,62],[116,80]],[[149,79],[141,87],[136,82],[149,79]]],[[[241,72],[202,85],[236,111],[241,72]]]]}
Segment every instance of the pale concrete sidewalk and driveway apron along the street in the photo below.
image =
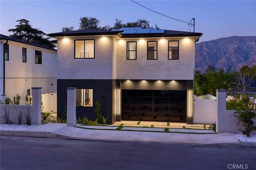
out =
{"type": "MultiPolygon", "coordinates": [[[[112,127],[113,128],[113,127],[112,127]]],[[[139,130],[139,129],[137,129],[139,130]]],[[[186,129],[184,129],[186,130],[186,129]]],[[[190,129],[187,129],[190,130],[190,129]]],[[[1,130],[1,135],[6,136],[29,136],[49,138],[79,138],[87,140],[113,140],[113,141],[147,141],[147,142],[172,142],[190,144],[239,144],[254,146],[239,142],[231,133],[220,134],[190,134],[174,132],[146,132],[126,130],[97,130],[66,126],[61,123],[48,123],[37,125],[26,130],[1,130]]],[[[246,142],[247,143],[247,142],[246,142]]]]}

